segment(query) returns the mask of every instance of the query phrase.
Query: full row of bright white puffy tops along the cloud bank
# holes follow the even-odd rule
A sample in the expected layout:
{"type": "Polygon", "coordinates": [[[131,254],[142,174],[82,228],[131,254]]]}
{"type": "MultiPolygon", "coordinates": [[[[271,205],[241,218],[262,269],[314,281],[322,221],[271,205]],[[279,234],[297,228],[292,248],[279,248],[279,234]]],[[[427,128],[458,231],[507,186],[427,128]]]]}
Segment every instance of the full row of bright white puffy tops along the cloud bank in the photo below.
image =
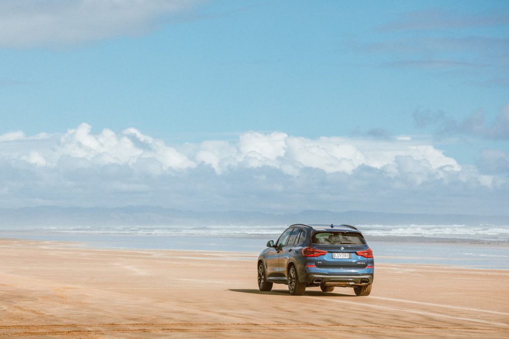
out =
{"type": "MultiPolygon", "coordinates": [[[[207,140],[188,144],[178,151],[133,128],[120,133],[109,129],[99,134],[91,131],[92,127],[83,123],[60,136],[40,134],[25,137],[22,132],[8,133],[0,136],[0,141],[10,144],[10,148],[3,148],[0,157],[18,158],[48,167],[56,167],[61,158],[70,157],[96,165],[126,164],[142,171],[142,163],[145,163],[152,172],[155,170],[154,162],[147,161],[150,159],[157,161],[163,171],[185,170],[200,163],[211,166],[217,174],[237,167],[269,166],[293,176],[299,175],[304,168],[352,174],[360,166],[382,170],[392,166],[389,173],[393,175],[394,166],[398,167],[398,157],[408,157],[431,172],[461,171],[461,166],[453,158],[444,156],[441,150],[406,138],[392,141],[340,137],[307,139],[279,132],[247,132],[241,134],[236,142],[207,140]],[[41,135],[52,140],[53,144],[50,142],[41,148],[41,135]],[[25,142],[16,148],[12,145],[16,140],[25,142]],[[28,141],[32,141],[32,148],[30,143],[26,146],[28,141]]],[[[405,172],[404,168],[398,171],[405,172]]]]}

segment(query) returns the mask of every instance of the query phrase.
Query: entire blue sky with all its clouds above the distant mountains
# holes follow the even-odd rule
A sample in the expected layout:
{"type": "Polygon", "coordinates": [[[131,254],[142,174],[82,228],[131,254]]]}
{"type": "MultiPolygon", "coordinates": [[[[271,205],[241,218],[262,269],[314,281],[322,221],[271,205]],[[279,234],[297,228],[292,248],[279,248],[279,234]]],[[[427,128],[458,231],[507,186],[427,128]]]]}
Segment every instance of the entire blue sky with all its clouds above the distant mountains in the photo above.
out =
{"type": "Polygon", "coordinates": [[[166,206],[500,214],[509,204],[507,2],[7,0],[0,32],[8,206],[161,204],[179,176],[191,186],[166,206]],[[126,153],[104,143],[105,129],[117,146],[131,138],[126,153]],[[140,159],[162,172],[133,174],[140,159]],[[76,188],[102,188],[111,164],[134,171],[118,184],[135,182],[143,198],[76,188]],[[40,191],[23,188],[31,180],[40,191]],[[72,199],[58,193],[66,185],[72,199]],[[442,205],[427,200],[437,194],[442,205]],[[444,207],[449,194],[461,204],[444,207]]]}

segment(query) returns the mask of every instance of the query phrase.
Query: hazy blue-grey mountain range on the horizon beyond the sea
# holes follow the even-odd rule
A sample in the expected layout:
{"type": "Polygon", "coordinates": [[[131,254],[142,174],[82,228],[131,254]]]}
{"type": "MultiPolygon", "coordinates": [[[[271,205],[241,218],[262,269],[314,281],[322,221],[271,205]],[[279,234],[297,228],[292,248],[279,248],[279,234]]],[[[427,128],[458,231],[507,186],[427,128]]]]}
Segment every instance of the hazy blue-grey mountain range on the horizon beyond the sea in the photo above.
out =
{"type": "Polygon", "coordinates": [[[509,225],[509,215],[411,214],[366,211],[304,210],[298,213],[190,211],[157,206],[0,208],[0,228],[87,226],[196,226],[196,225],[509,225]]]}

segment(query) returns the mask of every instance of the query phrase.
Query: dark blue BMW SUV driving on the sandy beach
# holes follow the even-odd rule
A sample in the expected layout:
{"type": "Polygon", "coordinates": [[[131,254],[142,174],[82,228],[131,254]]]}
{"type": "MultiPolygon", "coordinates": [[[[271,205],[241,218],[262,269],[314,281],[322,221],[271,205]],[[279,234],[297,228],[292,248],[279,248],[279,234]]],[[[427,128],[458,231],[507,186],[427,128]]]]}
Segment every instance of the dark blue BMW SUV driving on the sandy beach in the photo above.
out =
{"type": "Polygon", "coordinates": [[[374,274],[373,251],[357,228],[350,225],[295,224],[277,241],[267,242],[258,257],[258,287],[286,284],[293,295],[306,287],[332,292],[353,287],[356,295],[369,295],[374,274]]]}

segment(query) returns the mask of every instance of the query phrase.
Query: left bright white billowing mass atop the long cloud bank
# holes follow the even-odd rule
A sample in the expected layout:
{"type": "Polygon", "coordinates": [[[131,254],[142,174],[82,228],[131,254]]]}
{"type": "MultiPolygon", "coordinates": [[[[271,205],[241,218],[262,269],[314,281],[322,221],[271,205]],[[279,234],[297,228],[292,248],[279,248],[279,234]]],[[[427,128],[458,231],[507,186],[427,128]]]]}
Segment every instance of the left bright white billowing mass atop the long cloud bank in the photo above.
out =
{"type": "Polygon", "coordinates": [[[94,164],[118,164],[140,169],[140,164],[145,163],[153,171],[153,163],[145,161],[147,159],[160,163],[163,171],[195,166],[193,161],[175,148],[135,129],[127,129],[118,134],[109,129],[96,135],[91,131],[92,127],[83,123],[62,135],[39,134],[36,137],[24,137],[24,134],[16,132],[16,138],[13,138],[9,137],[11,134],[8,133],[4,135],[8,137],[0,139],[0,158],[23,160],[38,166],[63,166],[63,170],[68,166],[79,168],[94,164]],[[46,139],[47,142],[41,144],[41,139],[46,139]],[[15,140],[19,141],[18,147],[15,140]]]}

